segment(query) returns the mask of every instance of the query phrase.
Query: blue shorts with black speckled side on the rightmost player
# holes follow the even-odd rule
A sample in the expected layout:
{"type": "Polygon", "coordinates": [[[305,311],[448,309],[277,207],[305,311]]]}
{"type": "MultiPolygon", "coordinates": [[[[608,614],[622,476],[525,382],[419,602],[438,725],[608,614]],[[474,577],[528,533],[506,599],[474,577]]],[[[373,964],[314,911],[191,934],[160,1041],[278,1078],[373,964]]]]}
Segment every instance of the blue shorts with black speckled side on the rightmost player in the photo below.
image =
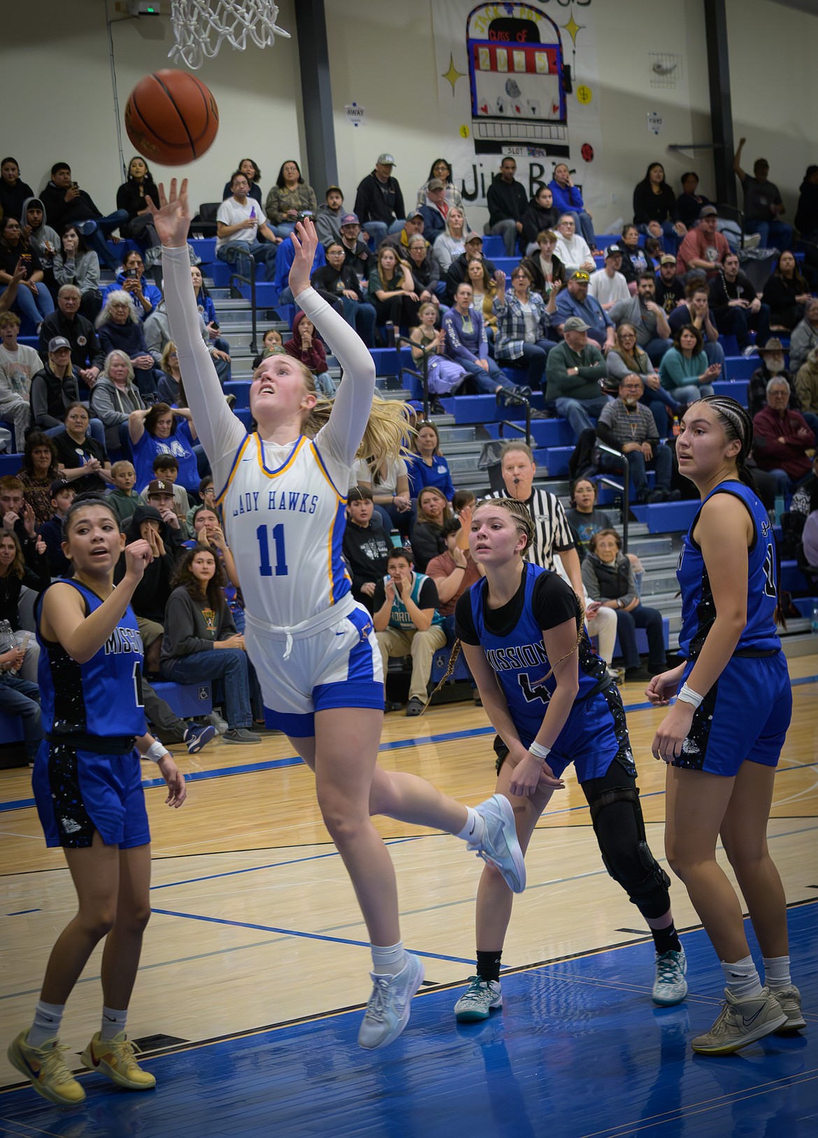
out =
{"type": "MultiPolygon", "coordinates": [[[[693,663],[685,666],[683,683],[693,663]]],[[[738,774],[745,761],[776,767],[792,711],[793,693],[783,652],[734,655],[696,708],[681,753],[672,765],[727,778],[738,774]]]]}

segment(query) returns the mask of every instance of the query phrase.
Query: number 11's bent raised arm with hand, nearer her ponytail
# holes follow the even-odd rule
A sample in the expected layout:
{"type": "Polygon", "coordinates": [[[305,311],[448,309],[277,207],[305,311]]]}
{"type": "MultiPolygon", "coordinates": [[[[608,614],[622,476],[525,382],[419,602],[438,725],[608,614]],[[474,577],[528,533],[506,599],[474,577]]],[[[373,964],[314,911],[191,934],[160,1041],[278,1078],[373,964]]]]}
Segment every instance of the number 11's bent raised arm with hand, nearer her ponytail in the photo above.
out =
{"type": "Polygon", "coordinates": [[[289,278],[292,296],[344,369],[344,382],[333,401],[330,421],[320,432],[321,442],[329,445],[340,461],[352,465],[372,410],[375,365],[355,329],[309,286],[319,244],[312,221],[299,222],[290,240],[296,249],[289,278]]]}

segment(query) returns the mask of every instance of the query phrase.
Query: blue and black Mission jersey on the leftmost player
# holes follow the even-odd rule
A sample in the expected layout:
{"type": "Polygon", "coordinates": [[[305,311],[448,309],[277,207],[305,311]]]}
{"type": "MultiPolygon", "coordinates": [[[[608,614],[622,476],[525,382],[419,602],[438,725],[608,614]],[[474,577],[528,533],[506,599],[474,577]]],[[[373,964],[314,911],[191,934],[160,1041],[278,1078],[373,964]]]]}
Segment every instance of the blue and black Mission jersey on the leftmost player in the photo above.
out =
{"type": "MultiPolygon", "coordinates": [[[[89,615],[102,603],[76,580],[65,579],[59,584],[71,585],[81,594],[89,615]]],[[[51,736],[85,739],[126,740],[143,735],[147,727],[142,704],[142,638],[131,607],[102,648],[85,663],[72,659],[61,644],[43,638],[39,611],[38,608],[38,681],[43,731],[51,736]]]]}

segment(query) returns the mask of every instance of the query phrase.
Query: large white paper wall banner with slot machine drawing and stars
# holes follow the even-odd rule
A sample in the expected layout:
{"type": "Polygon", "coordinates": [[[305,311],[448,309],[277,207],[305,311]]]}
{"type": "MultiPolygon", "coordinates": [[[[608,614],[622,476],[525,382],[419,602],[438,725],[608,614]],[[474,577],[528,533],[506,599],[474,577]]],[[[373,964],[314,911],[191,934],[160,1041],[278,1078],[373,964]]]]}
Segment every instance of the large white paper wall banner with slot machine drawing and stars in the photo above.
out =
{"type": "Polygon", "coordinates": [[[548,15],[536,5],[435,0],[439,122],[466,206],[485,205],[511,155],[531,196],[567,162],[593,212],[595,182],[603,192],[582,154],[584,143],[597,159],[602,149],[593,7],[587,0],[548,15]],[[579,90],[588,97],[579,100],[579,90]]]}

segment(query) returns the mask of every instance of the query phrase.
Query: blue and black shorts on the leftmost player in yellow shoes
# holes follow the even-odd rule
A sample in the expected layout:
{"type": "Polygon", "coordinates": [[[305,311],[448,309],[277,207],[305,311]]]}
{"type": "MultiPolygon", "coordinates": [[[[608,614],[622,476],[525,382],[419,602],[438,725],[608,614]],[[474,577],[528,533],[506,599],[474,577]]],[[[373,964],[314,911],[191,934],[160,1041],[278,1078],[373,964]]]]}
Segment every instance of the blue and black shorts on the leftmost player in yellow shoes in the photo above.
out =
{"type": "Polygon", "coordinates": [[[47,846],[82,849],[94,831],[119,849],[150,841],[137,750],[98,754],[43,740],[32,786],[47,846]]]}

